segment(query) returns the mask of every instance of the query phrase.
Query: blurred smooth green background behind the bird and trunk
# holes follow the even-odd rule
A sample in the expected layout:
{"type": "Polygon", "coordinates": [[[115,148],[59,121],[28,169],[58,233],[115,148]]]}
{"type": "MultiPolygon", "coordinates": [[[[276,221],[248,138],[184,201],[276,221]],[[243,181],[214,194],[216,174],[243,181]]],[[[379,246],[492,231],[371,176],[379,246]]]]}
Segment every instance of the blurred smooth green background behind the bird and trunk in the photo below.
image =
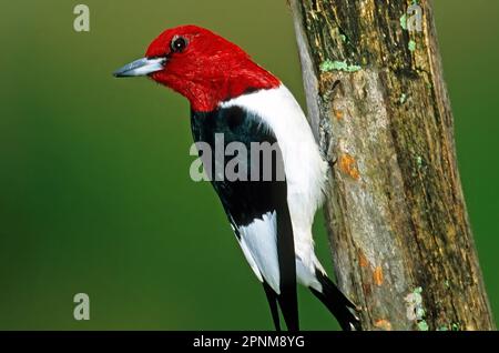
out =
{"type": "MultiPolygon", "coordinates": [[[[204,26],[304,95],[291,13],[266,1],[2,1],[0,329],[272,329],[208,183],[189,176],[189,105],[111,72],[163,29],[204,26]],[[91,31],[73,30],[73,8],[91,31]],[[91,320],[73,319],[90,295],[91,320]]],[[[460,172],[499,315],[499,1],[435,1],[460,172]]],[[[397,19],[396,19],[397,20],[397,19]]],[[[328,245],[318,216],[319,258],[328,245]]],[[[337,329],[307,291],[302,326],[337,329]]]]}

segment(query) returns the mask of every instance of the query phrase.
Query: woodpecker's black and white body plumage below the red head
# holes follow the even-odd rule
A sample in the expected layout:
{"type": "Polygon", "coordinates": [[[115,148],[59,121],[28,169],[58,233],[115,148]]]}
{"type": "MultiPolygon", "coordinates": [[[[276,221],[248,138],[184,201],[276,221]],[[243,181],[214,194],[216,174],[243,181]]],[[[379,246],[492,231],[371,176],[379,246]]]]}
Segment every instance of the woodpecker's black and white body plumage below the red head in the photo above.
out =
{"type": "MultiPolygon", "coordinates": [[[[246,93],[207,113],[192,111],[191,122],[194,140],[208,143],[213,153],[217,133],[225,145],[242,142],[249,152],[246,161],[240,161],[246,162],[247,181],[211,179],[241,249],[264,285],[276,327],[281,329],[278,302],[287,327],[299,329],[296,282],[308,286],[344,329],[355,327],[354,304],[328,280],[314,252],[312,224],[323,201],[328,164],[287,88],[246,93]],[[277,142],[281,153],[274,154],[273,171],[284,164],[284,181],[276,181],[275,173],[272,181],[249,180],[255,168],[252,142],[277,142]]],[[[214,171],[215,155],[207,160],[213,164],[207,170],[214,171]]]]}

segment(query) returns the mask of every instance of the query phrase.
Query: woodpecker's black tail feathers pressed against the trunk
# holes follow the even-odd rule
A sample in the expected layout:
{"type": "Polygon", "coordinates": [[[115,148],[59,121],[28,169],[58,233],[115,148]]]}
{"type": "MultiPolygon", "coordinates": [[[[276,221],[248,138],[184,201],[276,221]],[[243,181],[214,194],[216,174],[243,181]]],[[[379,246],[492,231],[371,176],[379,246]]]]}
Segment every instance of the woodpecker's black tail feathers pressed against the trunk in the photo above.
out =
{"type": "Polygon", "coordinates": [[[338,290],[327,275],[316,271],[316,276],[323,291],[318,292],[310,288],[312,293],[326,305],[344,331],[361,331],[360,321],[355,315],[357,306],[338,290]]]}

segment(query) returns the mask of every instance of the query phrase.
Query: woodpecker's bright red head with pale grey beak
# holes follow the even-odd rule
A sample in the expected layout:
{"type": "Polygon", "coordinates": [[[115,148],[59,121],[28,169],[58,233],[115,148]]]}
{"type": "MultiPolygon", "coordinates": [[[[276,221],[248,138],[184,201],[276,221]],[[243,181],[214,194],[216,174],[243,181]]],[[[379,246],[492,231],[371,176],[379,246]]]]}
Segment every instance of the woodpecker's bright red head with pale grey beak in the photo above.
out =
{"type": "Polygon", "coordinates": [[[115,72],[145,74],[187,98],[194,111],[213,111],[222,101],[281,83],[240,47],[196,26],[165,30],[144,59],[115,72]]]}

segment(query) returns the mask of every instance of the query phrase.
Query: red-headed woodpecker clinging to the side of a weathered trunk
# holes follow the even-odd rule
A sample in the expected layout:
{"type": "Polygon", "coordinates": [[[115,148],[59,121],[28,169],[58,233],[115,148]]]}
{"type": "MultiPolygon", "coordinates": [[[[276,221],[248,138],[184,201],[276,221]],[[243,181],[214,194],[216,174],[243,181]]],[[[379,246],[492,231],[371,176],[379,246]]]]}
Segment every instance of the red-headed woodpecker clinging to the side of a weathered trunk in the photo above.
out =
{"type": "MultiPolygon", "coordinates": [[[[164,30],[142,59],[113,74],[147,77],[184,95],[196,143],[216,148],[218,135],[224,147],[237,143],[249,151],[241,153],[238,171],[253,178],[228,180],[215,172],[211,182],[263,285],[275,330],[282,330],[279,311],[288,331],[299,330],[298,283],[324,303],[343,330],[360,330],[359,309],[330,281],[315,254],[312,225],[324,201],[329,163],[286,85],[238,46],[194,24],[164,30]],[[275,153],[257,158],[255,143],[274,147],[275,153]],[[268,167],[273,170],[265,179],[268,167]]],[[[213,149],[202,154],[206,170],[216,170],[213,149]]],[[[225,159],[220,163],[227,167],[225,159]]]]}

